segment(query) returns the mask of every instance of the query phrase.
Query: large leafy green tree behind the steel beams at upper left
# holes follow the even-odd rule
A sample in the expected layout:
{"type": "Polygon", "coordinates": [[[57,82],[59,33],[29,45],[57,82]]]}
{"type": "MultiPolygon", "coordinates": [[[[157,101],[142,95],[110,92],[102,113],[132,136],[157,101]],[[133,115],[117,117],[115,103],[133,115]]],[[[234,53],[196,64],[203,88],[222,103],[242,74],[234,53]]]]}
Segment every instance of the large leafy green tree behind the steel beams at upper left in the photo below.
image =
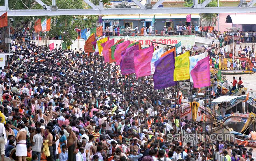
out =
{"type": "MultiPolygon", "coordinates": [[[[42,0],[46,5],[51,6],[51,0],[42,0]]],[[[94,0],[93,3],[99,3],[98,0],[94,0]]],[[[58,9],[82,9],[85,8],[85,3],[83,0],[58,0],[56,1],[58,9]]],[[[98,4],[95,4],[98,5],[98,4]]],[[[9,0],[9,9],[43,9],[34,0],[9,0]]],[[[62,36],[63,41],[66,45],[71,45],[71,40],[77,38],[77,33],[74,31],[75,26],[79,29],[84,29],[86,27],[91,28],[96,26],[98,15],[76,15],[76,16],[24,16],[24,17],[15,17],[13,26],[20,27],[20,22],[29,24],[32,22],[31,28],[34,27],[36,20],[49,19],[51,18],[51,30],[47,33],[47,36],[62,36]]]]}

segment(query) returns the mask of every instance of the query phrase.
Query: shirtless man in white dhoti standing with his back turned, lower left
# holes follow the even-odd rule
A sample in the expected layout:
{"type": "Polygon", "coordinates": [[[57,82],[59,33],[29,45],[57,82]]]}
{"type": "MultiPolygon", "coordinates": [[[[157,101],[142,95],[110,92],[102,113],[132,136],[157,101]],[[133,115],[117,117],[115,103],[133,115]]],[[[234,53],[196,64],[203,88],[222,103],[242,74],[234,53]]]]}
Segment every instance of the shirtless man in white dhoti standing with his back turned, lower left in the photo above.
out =
{"type": "Polygon", "coordinates": [[[27,143],[26,143],[26,136],[27,131],[25,130],[25,124],[22,123],[20,125],[21,129],[19,130],[17,136],[16,136],[16,156],[18,156],[18,161],[26,161],[27,151],[24,149],[27,149],[27,143]]]}

